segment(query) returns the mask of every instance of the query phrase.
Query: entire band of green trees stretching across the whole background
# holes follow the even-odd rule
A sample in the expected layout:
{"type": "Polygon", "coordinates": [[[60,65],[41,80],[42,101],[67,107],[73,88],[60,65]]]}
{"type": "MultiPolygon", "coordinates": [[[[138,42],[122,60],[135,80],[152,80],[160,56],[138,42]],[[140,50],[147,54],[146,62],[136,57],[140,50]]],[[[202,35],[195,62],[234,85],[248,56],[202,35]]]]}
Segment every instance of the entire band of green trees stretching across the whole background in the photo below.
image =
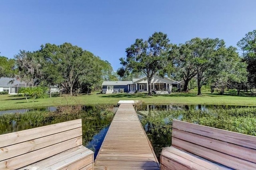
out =
{"type": "Polygon", "coordinates": [[[256,30],[238,41],[241,49],[226,47],[223,39],[193,38],[176,45],[167,34],[155,32],[147,40],[136,39],[120,58],[122,67],[113,72],[108,61],[71,43],[46,43],[37,51],[20,50],[14,59],[0,56],[0,77],[16,77],[28,86],[58,85],[66,94],[100,90],[103,81],[131,80],[147,76],[149,95],[153,75],[184,80],[183,91],[196,83],[201,88],[211,84],[221,94],[227,88],[255,88],[256,30]]]}

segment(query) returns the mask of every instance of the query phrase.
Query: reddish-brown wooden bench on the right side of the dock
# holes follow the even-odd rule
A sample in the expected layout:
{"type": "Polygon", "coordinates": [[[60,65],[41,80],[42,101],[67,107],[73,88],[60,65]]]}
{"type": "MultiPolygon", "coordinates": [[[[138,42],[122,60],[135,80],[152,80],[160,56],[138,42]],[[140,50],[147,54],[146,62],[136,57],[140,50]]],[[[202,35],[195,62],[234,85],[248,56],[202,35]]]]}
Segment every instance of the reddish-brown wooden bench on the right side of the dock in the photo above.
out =
{"type": "Polygon", "coordinates": [[[160,163],[162,170],[256,170],[256,137],[173,120],[160,163]]]}

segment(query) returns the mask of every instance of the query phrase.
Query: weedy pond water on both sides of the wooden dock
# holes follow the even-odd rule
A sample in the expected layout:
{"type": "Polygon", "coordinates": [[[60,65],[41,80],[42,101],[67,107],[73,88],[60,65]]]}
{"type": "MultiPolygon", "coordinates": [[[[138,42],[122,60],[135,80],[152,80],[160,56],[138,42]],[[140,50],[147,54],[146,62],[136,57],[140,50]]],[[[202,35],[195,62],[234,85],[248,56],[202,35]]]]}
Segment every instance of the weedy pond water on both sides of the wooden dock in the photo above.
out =
{"type": "MultiPolygon", "coordinates": [[[[0,134],[82,118],[83,145],[96,157],[117,109],[113,105],[19,109],[0,115],[0,134]]],[[[135,109],[158,158],[162,147],[171,145],[172,119],[256,135],[256,107],[142,105],[135,109]]]]}

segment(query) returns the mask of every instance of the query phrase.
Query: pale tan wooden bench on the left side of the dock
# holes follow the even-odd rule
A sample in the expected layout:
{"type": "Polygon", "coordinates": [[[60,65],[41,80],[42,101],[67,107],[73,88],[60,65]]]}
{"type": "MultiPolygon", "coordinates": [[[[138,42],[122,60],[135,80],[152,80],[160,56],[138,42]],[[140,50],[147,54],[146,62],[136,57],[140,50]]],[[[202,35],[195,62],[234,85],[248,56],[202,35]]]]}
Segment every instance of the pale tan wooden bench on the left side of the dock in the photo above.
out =
{"type": "Polygon", "coordinates": [[[0,170],[92,170],[93,153],[81,119],[0,135],[0,170]]]}

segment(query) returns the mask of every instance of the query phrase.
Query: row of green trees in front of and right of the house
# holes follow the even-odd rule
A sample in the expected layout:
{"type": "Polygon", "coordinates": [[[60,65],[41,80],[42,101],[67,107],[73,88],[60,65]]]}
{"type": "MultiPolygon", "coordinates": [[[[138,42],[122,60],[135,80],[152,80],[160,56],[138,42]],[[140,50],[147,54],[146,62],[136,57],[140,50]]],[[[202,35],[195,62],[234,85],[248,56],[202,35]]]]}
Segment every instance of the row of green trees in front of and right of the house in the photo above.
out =
{"type": "Polygon", "coordinates": [[[148,94],[153,75],[170,76],[184,80],[183,91],[188,92],[190,82],[196,82],[198,95],[203,85],[211,84],[224,94],[224,90],[255,88],[256,83],[256,30],[249,32],[236,47],[226,47],[223,39],[193,38],[183,44],[172,44],[167,34],[155,32],[147,40],[136,39],[120,58],[122,67],[117,74],[123,79],[144,74],[148,78],[148,94]]]}

